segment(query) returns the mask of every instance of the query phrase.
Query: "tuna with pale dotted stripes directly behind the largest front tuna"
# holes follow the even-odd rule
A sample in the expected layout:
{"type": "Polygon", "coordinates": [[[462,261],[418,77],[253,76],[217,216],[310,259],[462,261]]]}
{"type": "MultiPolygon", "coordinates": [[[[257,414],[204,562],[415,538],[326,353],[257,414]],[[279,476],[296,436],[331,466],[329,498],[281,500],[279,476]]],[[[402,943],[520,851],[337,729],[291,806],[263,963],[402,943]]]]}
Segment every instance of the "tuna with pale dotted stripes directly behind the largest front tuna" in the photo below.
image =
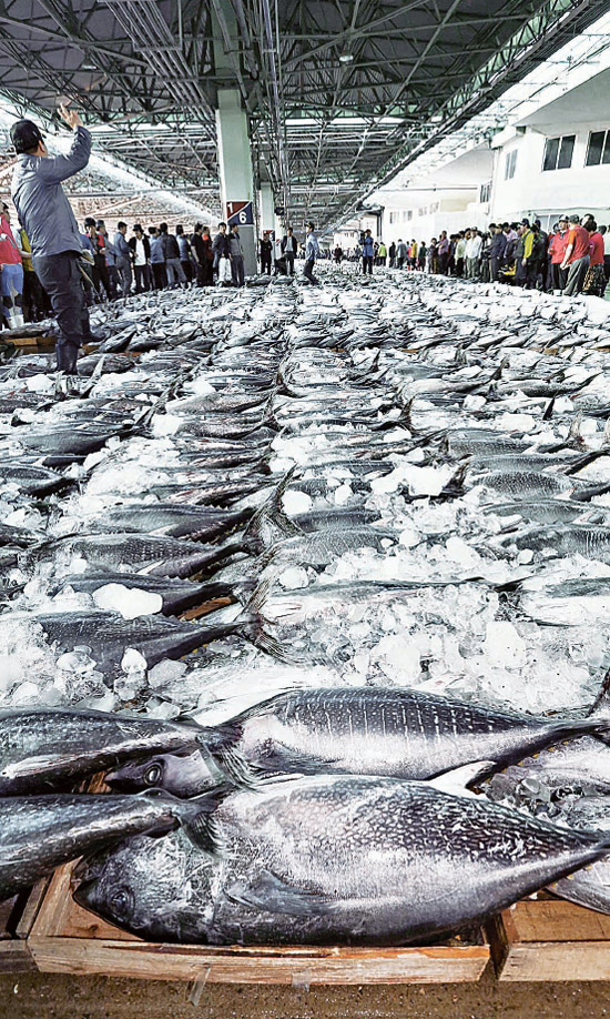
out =
{"type": "MultiPolygon", "coordinates": [[[[506,767],[560,739],[606,733],[610,719],[604,712],[602,706],[589,718],[561,720],[398,688],[291,690],[218,726],[206,746],[218,765],[242,781],[319,771],[426,779],[482,759],[506,767]]],[[[603,744],[600,747],[610,754],[603,744]]],[[[189,788],[193,764],[183,764],[189,788]]],[[[179,796],[189,795],[176,779],[181,766],[175,763],[171,786],[179,796]]],[[[199,791],[209,788],[207,771],[202,769],[199,791]]],[[[157,784],[165,788],[163,775],[157,784]]],[[[129,787],[121,786],[124,777],[119,771],[111,781],[118,788],[136,788],[133,773],[129,787]]]]}

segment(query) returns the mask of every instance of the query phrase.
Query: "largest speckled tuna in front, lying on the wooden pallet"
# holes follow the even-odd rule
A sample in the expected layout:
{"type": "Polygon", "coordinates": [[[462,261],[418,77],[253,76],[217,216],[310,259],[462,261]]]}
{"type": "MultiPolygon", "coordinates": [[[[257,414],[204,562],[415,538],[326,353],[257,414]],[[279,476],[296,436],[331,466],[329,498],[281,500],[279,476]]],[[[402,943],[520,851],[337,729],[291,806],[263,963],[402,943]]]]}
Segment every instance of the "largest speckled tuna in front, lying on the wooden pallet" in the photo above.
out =
{"type": "Polygon", "coordinates": [[[180,833],[130,839],[79,865],[77,901],[153,941],[397,945],[480,924],[610,846],[389,778],[284,780],[209,807],[211,852],[180,833]]]}

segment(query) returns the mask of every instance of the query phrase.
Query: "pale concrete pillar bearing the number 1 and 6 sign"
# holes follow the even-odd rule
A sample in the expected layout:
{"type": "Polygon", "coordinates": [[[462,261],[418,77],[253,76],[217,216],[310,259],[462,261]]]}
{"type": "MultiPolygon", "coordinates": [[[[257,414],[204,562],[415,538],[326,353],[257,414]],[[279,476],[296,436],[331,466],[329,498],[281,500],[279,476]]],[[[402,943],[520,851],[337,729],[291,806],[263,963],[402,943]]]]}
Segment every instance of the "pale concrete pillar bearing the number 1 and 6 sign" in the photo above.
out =
{"type": "Polygon", "coordinates": [[[246,275],[252,275],[256,272],[252,157],[247,117],[237,89],[218,89],[216,134],[223,216],[228,229],[234,222],[240,228],[246,275]]]}

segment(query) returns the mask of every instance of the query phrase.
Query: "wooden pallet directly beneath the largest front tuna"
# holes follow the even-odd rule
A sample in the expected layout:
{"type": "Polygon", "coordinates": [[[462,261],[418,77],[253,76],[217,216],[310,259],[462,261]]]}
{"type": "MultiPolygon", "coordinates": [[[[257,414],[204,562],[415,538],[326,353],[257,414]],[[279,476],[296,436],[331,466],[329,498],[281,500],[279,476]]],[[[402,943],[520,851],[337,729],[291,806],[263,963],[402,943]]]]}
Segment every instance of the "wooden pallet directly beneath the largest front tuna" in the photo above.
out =
{"type": "Polygon", "coordinates": [[[447,983],[479,979],[489,946],[479,932],[434,947],[308,948],[157,945],[112,927],[78,906],[75,865],[51,879],[28,940],[42,972],[105,973],[203,983],[447,983]]]}

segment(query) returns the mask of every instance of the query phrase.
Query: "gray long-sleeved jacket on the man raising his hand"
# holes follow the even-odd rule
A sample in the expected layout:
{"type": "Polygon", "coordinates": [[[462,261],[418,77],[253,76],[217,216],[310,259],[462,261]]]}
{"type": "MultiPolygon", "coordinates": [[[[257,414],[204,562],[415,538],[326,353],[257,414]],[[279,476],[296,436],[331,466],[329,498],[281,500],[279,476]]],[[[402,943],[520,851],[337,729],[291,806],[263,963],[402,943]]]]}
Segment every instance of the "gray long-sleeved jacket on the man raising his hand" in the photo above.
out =
{"type": "Polygon", "coordinates": [[[68,155],[20,155],[14,168],[11,194],[34,259],[78,251],[79,228],[61,181],[83,170],[91,154],[91,134],[77,128],[68,155]]]}

